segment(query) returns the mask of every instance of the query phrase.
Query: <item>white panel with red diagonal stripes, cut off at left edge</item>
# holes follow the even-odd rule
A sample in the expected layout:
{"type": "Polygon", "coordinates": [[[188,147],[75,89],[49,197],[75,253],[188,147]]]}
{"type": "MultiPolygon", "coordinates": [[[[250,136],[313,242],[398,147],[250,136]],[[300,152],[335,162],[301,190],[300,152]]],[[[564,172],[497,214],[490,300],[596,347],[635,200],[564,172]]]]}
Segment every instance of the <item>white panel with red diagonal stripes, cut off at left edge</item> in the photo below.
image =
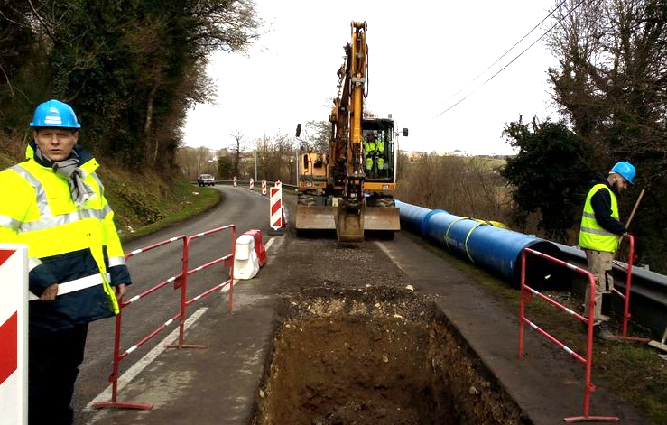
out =
{"type": "Polygon", "coordinates": [[[28,248],[0,244],[0,421],[28,423],[28,248]]]}

